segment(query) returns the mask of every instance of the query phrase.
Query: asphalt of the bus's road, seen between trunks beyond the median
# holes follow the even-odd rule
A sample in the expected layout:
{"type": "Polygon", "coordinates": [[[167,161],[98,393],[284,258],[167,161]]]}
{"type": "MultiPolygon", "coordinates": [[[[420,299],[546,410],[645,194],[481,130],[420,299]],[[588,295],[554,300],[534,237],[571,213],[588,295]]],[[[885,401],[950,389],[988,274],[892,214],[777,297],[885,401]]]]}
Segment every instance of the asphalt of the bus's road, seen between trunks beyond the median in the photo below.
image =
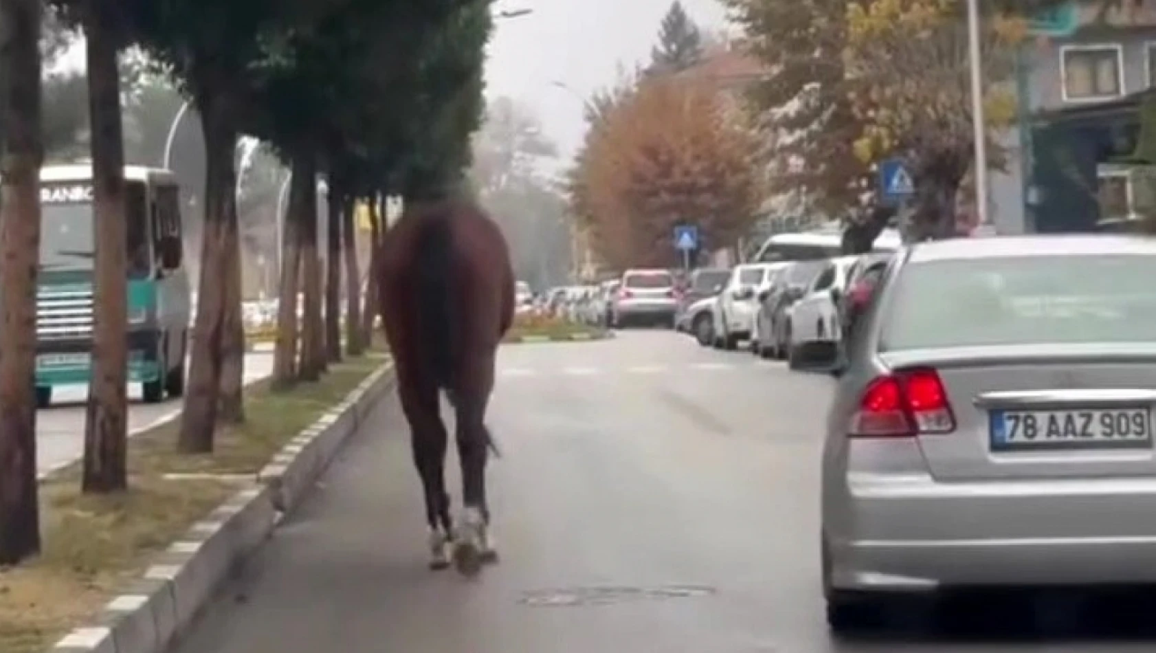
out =
{"type": "MultiPolygon", "coordinates": [[[[267,377],[273,371],[272,354],[245,356],[245,381],[267,377]]],[[[180,413],[180,399],[161,403],[141,401],[139,384],[128,388],[128,430],[144,430],[173,418],[180,413]]],[[[45,474],[68,465],[84,453],[84,402],[88,386],[59,388],[53,393],[52,406],[36,414],[36,470],[45,474]]]]}

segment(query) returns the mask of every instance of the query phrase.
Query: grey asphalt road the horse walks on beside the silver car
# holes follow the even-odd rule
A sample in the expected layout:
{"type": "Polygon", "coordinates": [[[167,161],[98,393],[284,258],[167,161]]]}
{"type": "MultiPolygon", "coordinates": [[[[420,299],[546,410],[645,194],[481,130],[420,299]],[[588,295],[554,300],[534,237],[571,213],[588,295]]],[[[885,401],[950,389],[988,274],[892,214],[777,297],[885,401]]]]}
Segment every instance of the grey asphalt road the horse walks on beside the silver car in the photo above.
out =
{"type": "Polygon", "coordinates": [[[427,570],[407,429],[386,401],[178,653],[1151,648],[1079,606],[1044,603],[1059,625],[1040,635],[1020,625],[1030,604],[991,601],[832,640],[816,535],[827,377],[664,332],[510,347],[499,376],[497,566],[473,581],[427,570]]]}

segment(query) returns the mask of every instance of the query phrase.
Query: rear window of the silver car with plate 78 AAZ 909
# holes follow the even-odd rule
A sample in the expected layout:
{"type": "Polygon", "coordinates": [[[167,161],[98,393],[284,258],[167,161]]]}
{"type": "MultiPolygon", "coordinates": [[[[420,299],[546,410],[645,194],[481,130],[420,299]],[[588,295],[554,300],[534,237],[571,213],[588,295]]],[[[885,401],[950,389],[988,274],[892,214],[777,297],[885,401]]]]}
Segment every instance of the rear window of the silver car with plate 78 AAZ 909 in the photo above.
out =
{"type": "Polygon", "coordinates": [[[880,349],[1156,340],[1156,257],[1039,255],[903,269],[880,349]]]}

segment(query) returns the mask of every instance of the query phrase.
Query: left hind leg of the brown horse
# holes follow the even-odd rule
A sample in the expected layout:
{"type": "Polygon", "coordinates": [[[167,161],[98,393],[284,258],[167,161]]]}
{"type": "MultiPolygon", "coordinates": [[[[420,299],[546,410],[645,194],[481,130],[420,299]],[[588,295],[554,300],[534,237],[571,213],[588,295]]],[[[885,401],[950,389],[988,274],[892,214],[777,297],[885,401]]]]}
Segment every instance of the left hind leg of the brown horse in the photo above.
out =
{"type": "MultiPolygon", "coordinates": [[[[415,383],[400,383],[401,407],[409,422],[414,467],[422,481],[425,502],[427,547],[429,566],[450,566],[452,522],[450,496],[445,491],[445,452],[449,436],[437,403],[437,389],[415,383]]],[[[410,379],[406,379],[410,380],[410,379]]]]}

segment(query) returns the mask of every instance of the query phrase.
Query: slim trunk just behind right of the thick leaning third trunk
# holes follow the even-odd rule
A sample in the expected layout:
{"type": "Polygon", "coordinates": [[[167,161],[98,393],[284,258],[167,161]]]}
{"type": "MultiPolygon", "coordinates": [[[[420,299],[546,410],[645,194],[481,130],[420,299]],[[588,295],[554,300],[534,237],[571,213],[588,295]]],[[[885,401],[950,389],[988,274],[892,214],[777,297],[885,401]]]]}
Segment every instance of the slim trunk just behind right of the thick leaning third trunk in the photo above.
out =
{"type": "MultiPolygon", "coordinates": [[[[238,224],[236,190],[230,191],[234,201],[230,206],[234,215],[230,221],[238,224]]],[[[238,228],[239,229],[239,228],[238,228]]],[[[221,379],[217,421],[222,424],[242,424],[245,422],[245,324],[240,313],[240,238],[239,232],[225,252],[229,265],[225,269],[224,297],[224,333],[221,343],[221,379]]]]}

